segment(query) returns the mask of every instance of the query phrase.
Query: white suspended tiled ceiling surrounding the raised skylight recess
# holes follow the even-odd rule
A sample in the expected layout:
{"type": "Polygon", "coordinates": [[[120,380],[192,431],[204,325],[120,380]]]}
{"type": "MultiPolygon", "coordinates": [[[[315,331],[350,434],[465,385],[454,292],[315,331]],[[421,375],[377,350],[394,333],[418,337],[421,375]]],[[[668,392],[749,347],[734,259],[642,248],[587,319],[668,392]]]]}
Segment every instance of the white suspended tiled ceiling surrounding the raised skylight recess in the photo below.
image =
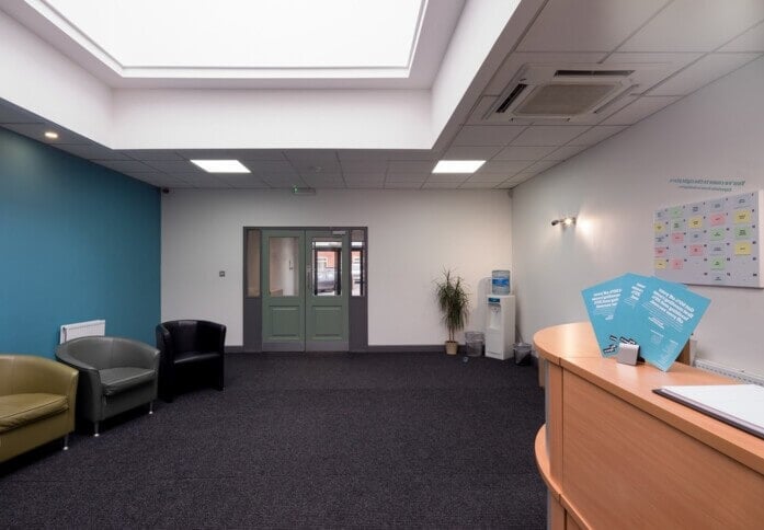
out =
{"type": "MultiPolygon", "coordinates": [[[[513,30],[513,38],[497,42],[432,149],[115,150],[60,129],[52,143],[170,188],[511,188],[764,55],[761,0],[524,5],[534,16],[513,30]],[[651,73],[648,83],[584,123],[487,123],[486,112],[526,64],[650,65],[651,73]],[[189,162],[192,158],[235,158],[252,173],[206,174],[189,162]],[[432,174],[441,158],[487,163],[474,175],[432,174]]],[[[55,124],[0,102],[0,126],[43,141],[42,132],[55,124]]]]}

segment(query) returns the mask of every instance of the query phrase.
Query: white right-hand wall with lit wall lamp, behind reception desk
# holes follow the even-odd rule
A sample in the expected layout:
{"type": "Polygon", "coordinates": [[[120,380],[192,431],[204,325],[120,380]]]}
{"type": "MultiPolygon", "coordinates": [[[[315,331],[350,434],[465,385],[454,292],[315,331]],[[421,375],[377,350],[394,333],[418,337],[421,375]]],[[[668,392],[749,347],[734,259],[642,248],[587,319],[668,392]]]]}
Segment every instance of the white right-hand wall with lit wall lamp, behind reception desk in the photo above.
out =
{"type": "MultiPolygon", "coordinates": [[[[526,339],[548,325],[586,320],[581,289],[626,272],[653,273],[655,209],[725,195],[682,189],[671,178],[764,188],[762,94],[764,59],[515,188],[513,273],[526,339]],[[579,216],[573,230],[550,227],[563,214],[579,216]]],[[[711,299],[696,331],[698,357],[764,373],[764,290],[691,289],[711,299]]]]}

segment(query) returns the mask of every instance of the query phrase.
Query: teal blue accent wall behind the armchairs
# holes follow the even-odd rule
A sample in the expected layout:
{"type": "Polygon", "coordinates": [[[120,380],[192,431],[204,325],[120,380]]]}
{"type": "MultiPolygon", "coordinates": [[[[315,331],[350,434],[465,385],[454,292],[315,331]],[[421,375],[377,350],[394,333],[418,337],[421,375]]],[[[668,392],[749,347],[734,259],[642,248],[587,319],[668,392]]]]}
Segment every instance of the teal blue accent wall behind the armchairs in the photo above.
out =
{"type": "Polygon", "coordinates": [[[153,186],[0,128],[0,353],[53,357],[61,324],[153,344],[153,186]]]}

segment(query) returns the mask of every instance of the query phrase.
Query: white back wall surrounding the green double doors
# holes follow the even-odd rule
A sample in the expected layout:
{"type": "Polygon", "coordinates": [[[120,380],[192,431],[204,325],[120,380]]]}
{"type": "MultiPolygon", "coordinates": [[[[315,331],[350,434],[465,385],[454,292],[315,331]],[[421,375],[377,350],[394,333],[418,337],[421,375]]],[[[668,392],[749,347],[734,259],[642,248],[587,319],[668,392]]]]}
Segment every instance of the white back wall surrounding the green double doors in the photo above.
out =
{"type": "Polygon", "coordinates": [[[451,267],[477,293],[509,267],[510,203],[505,191],[173,191],[162,196],[162,320],[223,322],[241,345],[243,227],[365,226],[369,345],[441,344],[433,280],[451,267]]]}

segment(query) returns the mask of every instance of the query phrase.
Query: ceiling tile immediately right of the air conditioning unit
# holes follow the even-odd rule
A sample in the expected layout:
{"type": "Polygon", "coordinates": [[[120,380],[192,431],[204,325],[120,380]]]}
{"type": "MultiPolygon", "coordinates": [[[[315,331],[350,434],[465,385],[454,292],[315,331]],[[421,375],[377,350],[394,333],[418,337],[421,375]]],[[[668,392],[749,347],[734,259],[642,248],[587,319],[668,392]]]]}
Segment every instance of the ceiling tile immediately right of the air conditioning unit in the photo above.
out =
{"type": "Polygon", "coordinates": [[[650,95],[687,95],[761,57],[761,54],[710,54],[650,91],[650,95]]]}

